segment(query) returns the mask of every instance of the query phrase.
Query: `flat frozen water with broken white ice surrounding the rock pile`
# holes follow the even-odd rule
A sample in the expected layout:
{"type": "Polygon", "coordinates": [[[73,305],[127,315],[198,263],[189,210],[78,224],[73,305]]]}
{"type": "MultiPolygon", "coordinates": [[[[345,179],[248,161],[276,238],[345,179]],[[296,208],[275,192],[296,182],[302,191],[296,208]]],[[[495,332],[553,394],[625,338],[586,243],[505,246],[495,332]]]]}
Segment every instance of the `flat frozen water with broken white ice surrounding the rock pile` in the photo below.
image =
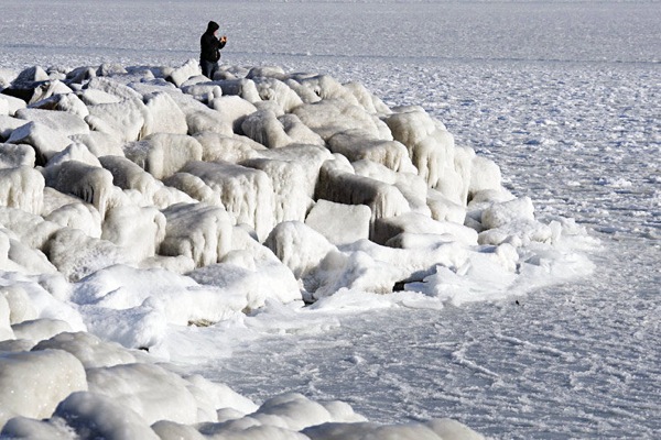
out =
{"type": "Polygon", "coordinates": [[[373,421],[452,417],[492,438],[661,431],[661,3],[0,0],[0,68],[13,70],[178,66],[216,20],[225,63],[327,73],[389,106],[422,106],[457,145],[500,165],[539,219],[588,231],[595,266],[579,280],[532,279],[525,296],[442,308],[338,295],[294,319],[269,305],[242,322],[173,330],[182,371],[257,403],[299,392],[373,421]]]}

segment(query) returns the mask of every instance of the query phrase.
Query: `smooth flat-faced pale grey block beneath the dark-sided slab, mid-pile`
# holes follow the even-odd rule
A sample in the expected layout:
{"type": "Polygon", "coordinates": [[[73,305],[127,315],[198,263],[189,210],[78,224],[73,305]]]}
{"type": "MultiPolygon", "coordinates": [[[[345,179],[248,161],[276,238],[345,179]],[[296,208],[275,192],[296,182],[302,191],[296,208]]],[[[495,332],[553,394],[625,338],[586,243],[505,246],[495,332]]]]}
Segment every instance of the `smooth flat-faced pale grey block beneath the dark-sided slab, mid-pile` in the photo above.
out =
{"type": "Polygon", "coordinates": [[[343,205],[319,199],[305,218],[305,224],[330,243],[343,245],[369,238],[371,211],[365,205],[343,205]]]}

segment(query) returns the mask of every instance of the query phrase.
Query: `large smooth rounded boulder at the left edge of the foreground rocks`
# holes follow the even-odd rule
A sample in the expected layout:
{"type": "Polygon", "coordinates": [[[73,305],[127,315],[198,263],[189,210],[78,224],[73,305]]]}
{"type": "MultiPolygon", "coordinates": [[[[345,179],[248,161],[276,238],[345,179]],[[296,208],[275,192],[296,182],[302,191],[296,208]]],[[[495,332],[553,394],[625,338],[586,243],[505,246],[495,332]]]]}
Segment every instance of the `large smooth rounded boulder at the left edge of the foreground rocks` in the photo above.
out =
{"type": "Polygon", "coordinates": [[[17,416],[50,417],[66,396],[85,389],[85,369],[65,351],[1,354],[0,426],[17,416]]]}

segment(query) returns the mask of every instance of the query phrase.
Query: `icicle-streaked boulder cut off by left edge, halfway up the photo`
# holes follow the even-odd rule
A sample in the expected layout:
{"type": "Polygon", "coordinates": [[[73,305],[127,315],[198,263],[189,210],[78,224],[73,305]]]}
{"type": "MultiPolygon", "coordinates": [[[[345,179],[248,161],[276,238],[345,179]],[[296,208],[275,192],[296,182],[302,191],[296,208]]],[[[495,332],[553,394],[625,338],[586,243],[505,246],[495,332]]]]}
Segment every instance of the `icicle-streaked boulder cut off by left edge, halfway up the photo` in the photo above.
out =
{"type": "Polygon", "coordinates": [[[0,206],[41,212],[45,179],[34,168],[0,168],[0,206]]]}

